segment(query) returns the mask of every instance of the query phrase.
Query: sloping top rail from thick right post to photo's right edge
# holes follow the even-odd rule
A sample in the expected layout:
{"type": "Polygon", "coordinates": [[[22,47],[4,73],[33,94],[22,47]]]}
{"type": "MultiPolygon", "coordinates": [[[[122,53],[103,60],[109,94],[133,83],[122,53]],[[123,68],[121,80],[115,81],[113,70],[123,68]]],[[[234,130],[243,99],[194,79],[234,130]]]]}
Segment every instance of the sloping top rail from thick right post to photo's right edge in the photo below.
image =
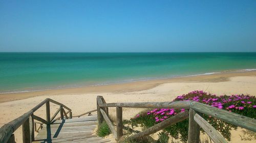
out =
{"type": "Polygon", "coordinates": [[[237,113],[222,110],[199,102],[191,102],[191,108],[206,115],[221,119],[233,125],[256,132],[256,120],[237,113]]]}

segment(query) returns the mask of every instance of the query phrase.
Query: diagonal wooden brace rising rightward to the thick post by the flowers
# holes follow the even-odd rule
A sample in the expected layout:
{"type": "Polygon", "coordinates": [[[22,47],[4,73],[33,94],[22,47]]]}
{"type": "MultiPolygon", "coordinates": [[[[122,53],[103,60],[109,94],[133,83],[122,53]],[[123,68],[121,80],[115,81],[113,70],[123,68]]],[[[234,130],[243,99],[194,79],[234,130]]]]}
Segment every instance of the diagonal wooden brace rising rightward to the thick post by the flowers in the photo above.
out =
{"type": "Polygon", "coordinates": [[[173,116],[173,117],[170,117],[169,119],[167,120],[164,120],[160,123],[158,123],[157,125],[153,126],[153,127],[150,127],[140,133],[137,133],[133,136],[130,136],[131,139],[136,139],[136,138],[141,138],[143,136],[146,136],[146,135],[150,135],[150,134],[153,134],[159,130],[162,130],[163,128],[166,128],[170,125],[174,125],[178,122],[181,122],[185,119],[188,118],[188,111],[185,110],[184,112],[181,112],[181,113],[178,113],[177,115],[173,116]]]}

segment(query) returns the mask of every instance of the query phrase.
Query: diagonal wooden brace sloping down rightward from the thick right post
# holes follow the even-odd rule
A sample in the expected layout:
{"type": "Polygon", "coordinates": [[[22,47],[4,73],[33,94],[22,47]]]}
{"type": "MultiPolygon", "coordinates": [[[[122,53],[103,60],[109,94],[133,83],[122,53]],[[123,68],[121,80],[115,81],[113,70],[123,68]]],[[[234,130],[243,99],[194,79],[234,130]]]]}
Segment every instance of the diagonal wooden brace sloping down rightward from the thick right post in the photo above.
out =
{"type": "Polygon", "coordinates": [[[212,127],[207,121],[205,121],[201,116],[197,113],[194,116],[194,120],[197,124],[209,135],[209,137],[215,143],[227,143],[224,137],[214,128],[212,127]]]}

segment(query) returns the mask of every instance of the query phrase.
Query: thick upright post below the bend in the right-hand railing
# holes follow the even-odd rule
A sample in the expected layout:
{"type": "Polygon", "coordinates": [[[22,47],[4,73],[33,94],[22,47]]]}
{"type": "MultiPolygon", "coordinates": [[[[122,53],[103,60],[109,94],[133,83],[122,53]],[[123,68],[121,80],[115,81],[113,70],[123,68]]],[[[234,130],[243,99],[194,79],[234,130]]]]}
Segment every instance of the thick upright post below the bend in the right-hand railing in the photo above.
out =
{"type": "Polygon", "coordinates": [[[199,143],[200,141],[200,126],[194,120],[196,111],[189,109],[189,121],[188,121],[188,143],[199,143]]]}

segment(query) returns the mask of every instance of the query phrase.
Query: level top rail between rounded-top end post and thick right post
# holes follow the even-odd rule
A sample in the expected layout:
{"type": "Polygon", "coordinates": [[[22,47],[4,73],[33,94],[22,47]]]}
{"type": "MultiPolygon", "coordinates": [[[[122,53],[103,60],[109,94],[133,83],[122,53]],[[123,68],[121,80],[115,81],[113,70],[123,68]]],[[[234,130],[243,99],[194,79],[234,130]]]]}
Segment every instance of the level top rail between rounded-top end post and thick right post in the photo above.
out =
{"type": "Polygon", "coordinates": [[[191,101],[103,103],[100,107],[189,109],[191,101]]]}

